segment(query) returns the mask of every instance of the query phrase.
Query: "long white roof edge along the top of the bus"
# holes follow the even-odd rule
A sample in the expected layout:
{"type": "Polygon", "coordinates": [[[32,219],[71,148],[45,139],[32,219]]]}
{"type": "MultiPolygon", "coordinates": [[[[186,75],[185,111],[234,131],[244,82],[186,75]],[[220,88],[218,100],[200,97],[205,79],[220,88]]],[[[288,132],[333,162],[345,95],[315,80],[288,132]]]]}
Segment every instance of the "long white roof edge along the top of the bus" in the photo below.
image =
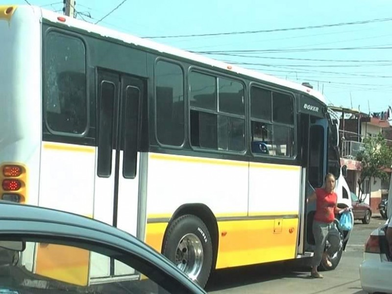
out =
{"type": "MultiPolygon", "coordinates": [[[[27,6],[27,5],[21,5],[19,7],[20,8],[28,7],[29,9],[31,9],[31,6],[27,6]]],[[[305,86],[298,84],[298,83],[287,81],[285,79],[281,79],[281,78],[278,78],[278,77],[275,77],[272,75],[268,75],[265,73],[260,73],[260,72],[256,72],[253,70],[244,69],[242,67],[238,67],[238,66],[235,66],[235,65],[232,65],[229,63],[225,63],[225,62],[218,61],[218,60],[215,60],[212,58],[208,58],[208,57],[196,54],[196,53],[191,53],[191,52],[188,52],[185,50],[172,48],[170,46],[162,45],[162,44],[153,42],[148,39],[136,37],[136,36],[122,33],[122,32],[119,32],[119,31],[116,31],[113,29],[109,29],[109,28],[106,28],[106,27],[103,27],[100,25],[95,25],[95,24],[91,24],[91,23],[88,23],[85,21],[81,21],[81,20],[77,20],[77,19],[74,19],[71,17],[60,15],[56,12],[43,9],[41,7],[37,7],[37,8],[41,9],[42,18],[47,19],[48,21],[53,22],[53,23],[65,24],[70,27],[75,27],[75,28],[82,29],[82,30],[85,30],[90,33],[98,34],[102,37],[109,37],[109,38],[117,39],[117,40],[123,41],[124,43],[132,44],[134,46],[141,46],[141,47],[153,49],[158,52],[179,56],[179,57],[182,57],[185,59],[189,59],[189,60],[193,60],[196,62],[206,64],[206,65],[209,65],[212,67],[220,68],[220,69],[223,69],[226,71],[243,74],[243,75],[246,75],[249,77],[253,77],[255,79],[260,79],[260,80],[270,82],[273,84],[281,85],[281,86],[284,86],[284,87],[287,87],[287,88],[290,88],[293,90],[297,90],[297,91],[306,93],[310,96],[317,98],[320,102],[326,104],[324,96],[319,91],[316,91],[316,90],[311,89],[309,87],[305,87],[305,86]],[[59,17],[61,17],[63,21],[59,20],[58,19],[59,17]]]]}

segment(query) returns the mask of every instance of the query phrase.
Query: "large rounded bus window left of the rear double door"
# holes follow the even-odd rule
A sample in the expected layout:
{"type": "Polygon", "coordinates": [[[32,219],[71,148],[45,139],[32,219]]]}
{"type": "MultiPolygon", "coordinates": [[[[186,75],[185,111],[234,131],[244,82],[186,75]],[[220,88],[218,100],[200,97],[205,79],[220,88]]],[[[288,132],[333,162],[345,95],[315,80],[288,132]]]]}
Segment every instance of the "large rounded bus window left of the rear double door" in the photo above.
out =
{"type": "Polygon", "coordinates": [[[51,32],[44,49],[44,105],[50,132],[81,134],[87,127],[86,51],[77,38],[51,32]]]}

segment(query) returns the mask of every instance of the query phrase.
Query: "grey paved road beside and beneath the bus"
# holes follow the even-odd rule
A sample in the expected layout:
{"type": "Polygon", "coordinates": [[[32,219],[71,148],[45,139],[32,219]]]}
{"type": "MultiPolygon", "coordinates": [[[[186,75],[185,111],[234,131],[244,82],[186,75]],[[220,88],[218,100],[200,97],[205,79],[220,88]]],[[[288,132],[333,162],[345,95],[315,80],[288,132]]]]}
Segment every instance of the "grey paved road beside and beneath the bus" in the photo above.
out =
{"type": "Polygon", "coordinates": [[[324,279],[310,278],[309,269],[293,263],[272,264],[218,270],[206,290],[211,294],[365,294],[359,281],[364,244],[371,231],[384,222],[378,218],[368,225],[356,221],[341,263],[336,270],[323,272],[324,279]]]}

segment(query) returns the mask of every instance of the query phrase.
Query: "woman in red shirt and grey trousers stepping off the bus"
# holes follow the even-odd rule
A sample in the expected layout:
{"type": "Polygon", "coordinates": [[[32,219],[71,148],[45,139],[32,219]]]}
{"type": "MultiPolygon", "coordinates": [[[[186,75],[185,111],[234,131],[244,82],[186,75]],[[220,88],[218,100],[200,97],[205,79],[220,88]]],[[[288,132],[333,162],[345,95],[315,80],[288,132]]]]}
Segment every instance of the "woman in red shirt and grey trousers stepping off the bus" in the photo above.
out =
{"type": "Polygon", "coordinates": [[[347,211],[348,208],[340,209],[337,206],[338,196],[334,192],[335,176],[328,173],[324,179],[324,188],[318,188],[309,197],[309,201],[316,200],[316,214],[313,221],[313,235],[315,237],[315,252],[312,261],[311,276],[314,278],[322,278],[317,268],[321,259],[324,258],[329,267],[332,267],[329,256],[335,254],[339,250],[340,233],[336,227],[334,220],[335,214],[340,211],[347,211]],[[324,252],[326,241],[330,243],[327,252],[324,252]]]}

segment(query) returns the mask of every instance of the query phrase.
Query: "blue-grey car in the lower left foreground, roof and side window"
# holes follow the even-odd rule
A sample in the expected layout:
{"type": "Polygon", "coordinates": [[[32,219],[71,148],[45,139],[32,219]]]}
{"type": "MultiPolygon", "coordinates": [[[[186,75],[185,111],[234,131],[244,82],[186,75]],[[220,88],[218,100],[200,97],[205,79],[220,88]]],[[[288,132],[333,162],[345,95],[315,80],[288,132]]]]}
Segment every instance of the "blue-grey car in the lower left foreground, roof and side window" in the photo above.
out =
{"type": "Polygon", "coordinates": [[[206,293],[108,224],[11,202],[0,202],[0,216],[0,293],[206,293]]]}

